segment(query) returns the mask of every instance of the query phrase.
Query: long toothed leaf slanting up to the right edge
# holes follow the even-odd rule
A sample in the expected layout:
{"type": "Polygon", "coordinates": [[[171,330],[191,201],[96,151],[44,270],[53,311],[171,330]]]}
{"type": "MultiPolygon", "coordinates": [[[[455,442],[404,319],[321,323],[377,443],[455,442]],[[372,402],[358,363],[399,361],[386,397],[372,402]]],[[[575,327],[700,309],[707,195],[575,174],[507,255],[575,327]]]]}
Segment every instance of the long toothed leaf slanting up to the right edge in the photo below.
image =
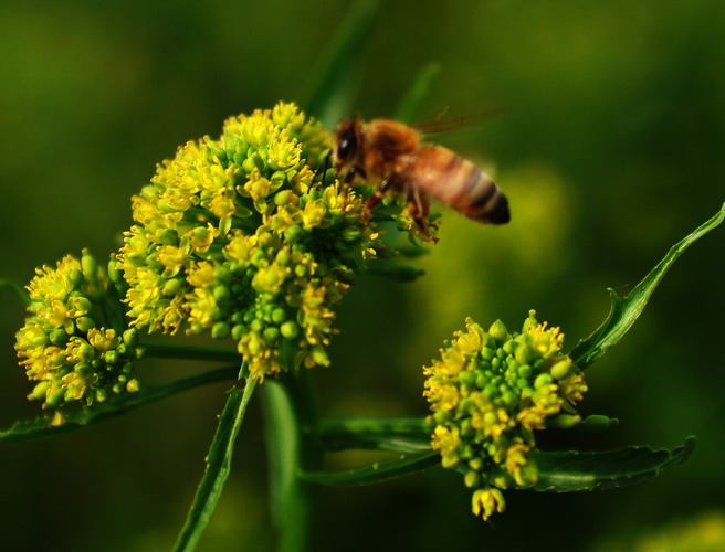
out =
{"type": "Polygon", "coordinates": [[[581,369],[597,361],[629,331],[676,258],[695,241],[721,224],[723,219],[725,219],[725,205],[715,216],[673,245],[652,272],[623,299],[617,295],[617,291],[609,289],[612,304],[607,320],[591,336],[579,341],[577,347],[569,353],[581,369]]]}

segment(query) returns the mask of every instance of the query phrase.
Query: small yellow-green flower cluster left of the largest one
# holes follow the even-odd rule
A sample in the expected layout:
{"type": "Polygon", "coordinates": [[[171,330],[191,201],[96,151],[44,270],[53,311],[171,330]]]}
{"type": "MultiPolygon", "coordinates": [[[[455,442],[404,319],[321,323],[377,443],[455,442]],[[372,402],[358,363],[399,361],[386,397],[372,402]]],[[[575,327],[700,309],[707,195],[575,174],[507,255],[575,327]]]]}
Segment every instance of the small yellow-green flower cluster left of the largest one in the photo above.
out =
{"type": "Polygon", "coordinates": [[[126,322],[116,287],[123,278],[109,270],[114,283],[83,251],[80,261],[67,255],[55,268],[38,268],[27,287],[31,302],[15,349],[28,378],[39,382],[29,399],[43,400],[43,407],[139,389],[132,375],[144,351],[126,322]]]}

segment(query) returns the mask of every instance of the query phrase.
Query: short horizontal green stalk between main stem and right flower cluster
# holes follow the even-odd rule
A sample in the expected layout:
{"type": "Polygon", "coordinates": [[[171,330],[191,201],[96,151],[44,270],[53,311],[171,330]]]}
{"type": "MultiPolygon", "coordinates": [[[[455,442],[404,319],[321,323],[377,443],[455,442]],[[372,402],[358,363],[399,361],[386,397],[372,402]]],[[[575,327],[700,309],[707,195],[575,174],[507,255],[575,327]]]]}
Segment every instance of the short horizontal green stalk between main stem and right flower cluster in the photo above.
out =
{"type": "Polygon", "coordinates": [[[327,450],[414,453],[430,448],[433,427],[424,418],[335,418],[317,425],[327,450]]]}

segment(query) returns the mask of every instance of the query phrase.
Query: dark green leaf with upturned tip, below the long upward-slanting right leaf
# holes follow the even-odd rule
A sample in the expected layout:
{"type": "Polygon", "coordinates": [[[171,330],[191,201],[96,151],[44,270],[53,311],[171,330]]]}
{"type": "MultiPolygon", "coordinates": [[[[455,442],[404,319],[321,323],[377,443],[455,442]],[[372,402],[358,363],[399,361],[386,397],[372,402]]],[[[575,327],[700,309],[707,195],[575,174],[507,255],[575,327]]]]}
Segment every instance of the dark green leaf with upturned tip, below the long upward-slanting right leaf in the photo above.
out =
{"type": "Polygon", "coordinates": [[[532,453],[530,457],[539,468],[539,481],[529,488],[571,492],[639,484],[670,466],[682,464],[695,449],[695,437],[687,437],[681,447],[672,450],[637,446],[601,453],[532,453]]]}

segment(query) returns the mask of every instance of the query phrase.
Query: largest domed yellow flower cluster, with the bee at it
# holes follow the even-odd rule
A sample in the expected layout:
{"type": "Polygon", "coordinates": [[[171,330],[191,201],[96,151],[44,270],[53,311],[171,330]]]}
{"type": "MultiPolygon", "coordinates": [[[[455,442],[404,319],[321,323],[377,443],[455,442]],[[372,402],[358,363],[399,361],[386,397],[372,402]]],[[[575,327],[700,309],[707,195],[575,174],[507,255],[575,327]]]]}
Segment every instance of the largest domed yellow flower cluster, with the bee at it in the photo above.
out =
{"type": "Polygon", "coordinates": [[[330,140],[280,103],[161,163],[133,200],[136,224],[118,254],[132,323],[231,336],[259,380],[328,364],[333,307],[382,247],[364,198],[314,179],[330,140]]]}

